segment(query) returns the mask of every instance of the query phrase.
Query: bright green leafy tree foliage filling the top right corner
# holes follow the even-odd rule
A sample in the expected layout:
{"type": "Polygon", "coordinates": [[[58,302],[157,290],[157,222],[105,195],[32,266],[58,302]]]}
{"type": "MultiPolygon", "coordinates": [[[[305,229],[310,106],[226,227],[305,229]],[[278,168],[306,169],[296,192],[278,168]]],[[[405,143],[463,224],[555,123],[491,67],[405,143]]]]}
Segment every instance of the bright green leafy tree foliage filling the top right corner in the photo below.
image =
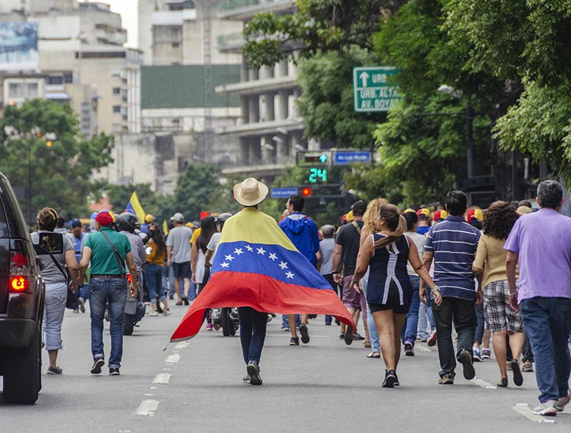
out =
{"type": "Polygon", "coordinates": [[[525,86],[495,123],[500,147],[571,180],[571,3],[453,0],[449,8],[448,33],[470,47],[465,68],[525,86]]]}

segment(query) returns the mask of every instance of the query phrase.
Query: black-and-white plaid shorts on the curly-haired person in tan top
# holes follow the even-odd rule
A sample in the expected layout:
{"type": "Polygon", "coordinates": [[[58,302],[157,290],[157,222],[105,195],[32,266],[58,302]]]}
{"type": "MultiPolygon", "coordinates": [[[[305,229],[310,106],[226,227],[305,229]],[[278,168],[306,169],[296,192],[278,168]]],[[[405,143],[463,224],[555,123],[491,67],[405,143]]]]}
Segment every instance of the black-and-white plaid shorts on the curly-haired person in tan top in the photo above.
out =
{"type": "MultiPolygon", "coordinates": [[[[515,281],[518,287],[517,280],[515,281]]],[[[484,320],[490,331],[523,332],[522,316],[510,307],[507,280],[490,282],[484,288],[484,320]]]]}

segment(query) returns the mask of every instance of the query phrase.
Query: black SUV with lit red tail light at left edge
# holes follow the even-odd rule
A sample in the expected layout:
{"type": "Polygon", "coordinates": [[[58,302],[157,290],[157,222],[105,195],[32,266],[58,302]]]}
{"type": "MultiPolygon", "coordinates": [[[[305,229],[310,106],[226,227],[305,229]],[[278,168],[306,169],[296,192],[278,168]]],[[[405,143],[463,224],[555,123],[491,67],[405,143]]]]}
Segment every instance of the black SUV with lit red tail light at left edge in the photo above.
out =
{"type": "Polygon", "coordinates": [[[0,173],[0,375],[6,403],[34,404],[38,399],[44,296],[24,216],[0,173]]]}

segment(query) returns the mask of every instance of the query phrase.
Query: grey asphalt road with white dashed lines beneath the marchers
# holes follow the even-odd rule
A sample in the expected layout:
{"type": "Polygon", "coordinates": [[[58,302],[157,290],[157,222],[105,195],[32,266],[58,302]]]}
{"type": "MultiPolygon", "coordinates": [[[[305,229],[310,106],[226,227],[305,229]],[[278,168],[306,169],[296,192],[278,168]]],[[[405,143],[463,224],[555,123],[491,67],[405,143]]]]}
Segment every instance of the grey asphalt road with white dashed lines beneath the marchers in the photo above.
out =
{"type": "MultiPolygon", "coordinates": [[[[346,346],[338,327],[311,320],[310,343],[290,347],[281,320],[268,324],[261,376],[246,373],[239,337],[201,331],[193,340],[168,338],[186,307],[141,321],[125,337],[121,376],[91,368],[89,312],[66,311],[61,376],[43,375],[33,406],[0,402],[2,432],[570,432],[571,407],[553,419],[534,416],[535,375],[522,387],[496,389],[495,360],[477,363],[477,378],[457,370],[453,386],[438,385],[436,347],[403,356],[400,387],[383,389],[383,362],[365,357],[361,342],[346,346]]],[[[105,332],[109,344],[108,325],[105,332]]],[[[108,355],[108,352],[107,352],[108,355]]],[[[44,352],[44,372],[47,354],[44,352]]]]}

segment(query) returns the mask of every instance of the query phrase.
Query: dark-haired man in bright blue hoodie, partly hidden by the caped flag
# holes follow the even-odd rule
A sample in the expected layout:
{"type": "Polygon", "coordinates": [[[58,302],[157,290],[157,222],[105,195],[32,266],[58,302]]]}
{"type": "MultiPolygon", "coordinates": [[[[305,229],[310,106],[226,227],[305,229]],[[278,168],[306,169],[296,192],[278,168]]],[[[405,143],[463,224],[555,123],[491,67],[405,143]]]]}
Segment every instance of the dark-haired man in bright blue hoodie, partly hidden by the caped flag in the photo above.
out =
{"type": "MultiPolygon", "coordinates": [[[[290,238],[295,248],[307,258],[310,263],[317,267],[317,254],[319,252],[319,235],[317,225],[313,223],[307,215],[303,215],[301,211],[305,205],[303,195],[290,195],[285,208],[289,215],[280,221],[280,228],[288,238],[290,238]]],[[[295,331],[295,315],[288,315],[290,325],[291,339],[290,346],[299,346],[298,333],[295,331]]],[[[302,315],[299,332],[301,334],[301,342],[307,344],[309,342],[308,333],[308,315],[302,315]]]]}

